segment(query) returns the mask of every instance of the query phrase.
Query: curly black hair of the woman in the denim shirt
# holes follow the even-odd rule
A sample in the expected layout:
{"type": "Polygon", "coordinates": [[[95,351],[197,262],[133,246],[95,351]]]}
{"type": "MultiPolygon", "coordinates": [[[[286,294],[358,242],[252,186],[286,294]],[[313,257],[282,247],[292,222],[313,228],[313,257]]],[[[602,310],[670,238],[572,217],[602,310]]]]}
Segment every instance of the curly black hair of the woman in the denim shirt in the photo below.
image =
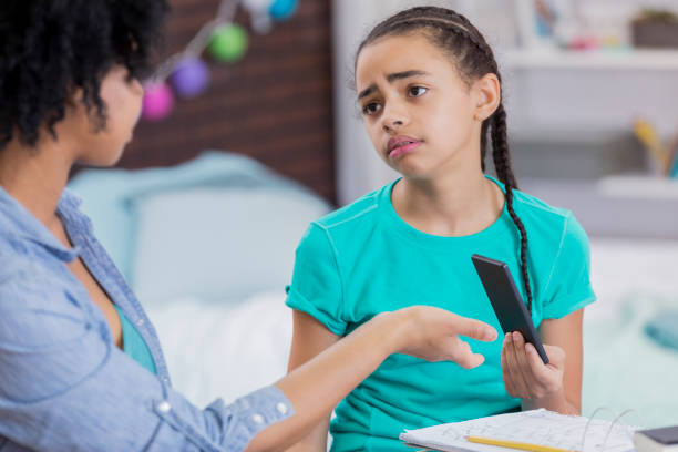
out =
{"type": "Polygon", "coordinates": [[[115,64],[132,79],[147,73],[168,10],[166,0],[2,0],[0,150],[56,137],[75,90],[104,127],[103,78],[115,64]]]}

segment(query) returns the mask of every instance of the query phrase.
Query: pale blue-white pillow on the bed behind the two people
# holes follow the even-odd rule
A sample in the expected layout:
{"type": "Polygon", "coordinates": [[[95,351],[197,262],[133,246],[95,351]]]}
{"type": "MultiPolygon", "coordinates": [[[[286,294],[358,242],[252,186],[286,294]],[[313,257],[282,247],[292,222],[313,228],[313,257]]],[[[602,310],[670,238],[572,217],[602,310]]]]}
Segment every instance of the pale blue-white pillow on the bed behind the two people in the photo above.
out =
{"type": "Polygon", "coordinates": [[[135,199],[132,286],[145,306],[242,299],[290,282],[308,224],[329,210],[298,188],[213,187],[135,199]]]}

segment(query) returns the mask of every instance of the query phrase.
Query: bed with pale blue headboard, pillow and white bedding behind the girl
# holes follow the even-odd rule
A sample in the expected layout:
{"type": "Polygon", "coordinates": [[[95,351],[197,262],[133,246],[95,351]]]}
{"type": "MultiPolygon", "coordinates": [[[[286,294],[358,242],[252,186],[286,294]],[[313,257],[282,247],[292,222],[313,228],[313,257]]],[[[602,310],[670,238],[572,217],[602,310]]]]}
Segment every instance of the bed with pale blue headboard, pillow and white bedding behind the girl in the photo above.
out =
{"type": "MultiPolygon", "coordinates": [[[[295,247],[331,206],[256,161],[206,152],[165,168],[91,170],[70,187],[140,296],[174,384],[195,403],[233,400],[286,372],[295,247]]],[[[585,314],[584,414],[678,423],[678,350],[644,332],[678,309],[678,242],[592,239],[599,300],[585,314]]]]}

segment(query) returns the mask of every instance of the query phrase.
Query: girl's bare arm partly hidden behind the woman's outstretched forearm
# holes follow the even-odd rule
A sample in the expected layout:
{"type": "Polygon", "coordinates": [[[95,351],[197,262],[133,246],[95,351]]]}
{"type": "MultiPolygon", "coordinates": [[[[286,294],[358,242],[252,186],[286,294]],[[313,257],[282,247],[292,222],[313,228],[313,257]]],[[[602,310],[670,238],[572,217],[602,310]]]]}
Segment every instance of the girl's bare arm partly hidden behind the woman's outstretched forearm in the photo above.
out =
{"type": "MultiPolygon", "coordinates": [[[[294,311],[294,335],[289,353],[288,372],[320,355],[340,339],[314,317],[299,310],[294,311]]],[[[288,452],[325,452],[327,451],[327,432],[330,415],[320,420],[309,435],[288,449],[288,452]]]]}

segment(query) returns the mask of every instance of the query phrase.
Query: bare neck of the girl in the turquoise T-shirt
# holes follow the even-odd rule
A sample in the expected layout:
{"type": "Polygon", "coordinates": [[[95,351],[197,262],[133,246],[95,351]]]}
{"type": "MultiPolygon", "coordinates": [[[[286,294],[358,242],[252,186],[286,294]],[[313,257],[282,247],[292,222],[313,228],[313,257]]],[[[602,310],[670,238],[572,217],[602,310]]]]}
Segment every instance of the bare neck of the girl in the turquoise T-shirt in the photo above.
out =
{"type": "Polygon", "coordinates": [[[483,230],[503,212],[501,188],[477,171],[427,179],[403,177],[393,187],[393,208],[414,228],[440,236],[483,230]]]}

